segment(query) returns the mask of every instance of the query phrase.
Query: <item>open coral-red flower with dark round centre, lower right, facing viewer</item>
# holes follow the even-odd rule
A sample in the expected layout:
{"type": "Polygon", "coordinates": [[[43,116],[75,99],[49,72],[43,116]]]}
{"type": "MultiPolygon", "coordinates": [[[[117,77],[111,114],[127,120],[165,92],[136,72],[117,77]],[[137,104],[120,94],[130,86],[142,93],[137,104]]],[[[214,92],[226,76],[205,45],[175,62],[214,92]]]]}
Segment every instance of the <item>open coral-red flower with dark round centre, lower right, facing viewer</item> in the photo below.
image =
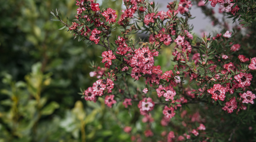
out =
{"type": "Polygon", "coordinates": [[[225,99],[225,92],[226,89],[224,87],[221,86],[221,84],[214,84],[213,88],[208,89],[207,90],[208,93],[212,94],[212,99],[214,99],[215,101],[222,100],[224,101],[225,99]]]}

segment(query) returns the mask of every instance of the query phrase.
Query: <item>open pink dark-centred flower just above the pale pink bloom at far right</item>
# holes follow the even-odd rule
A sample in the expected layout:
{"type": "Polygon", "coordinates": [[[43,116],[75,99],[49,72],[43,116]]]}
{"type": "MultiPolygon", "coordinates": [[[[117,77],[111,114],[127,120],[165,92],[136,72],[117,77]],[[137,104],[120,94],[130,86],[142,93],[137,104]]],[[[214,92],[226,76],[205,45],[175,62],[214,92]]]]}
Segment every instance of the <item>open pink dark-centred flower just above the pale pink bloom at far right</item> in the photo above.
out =
{"type": "Polygon", "coordinates": [[[251,85],[252,75],[240,72],[240,74],[235,75],[234,78],[239,82],[238,87],[244,88],[245,86],[251,85]]]}

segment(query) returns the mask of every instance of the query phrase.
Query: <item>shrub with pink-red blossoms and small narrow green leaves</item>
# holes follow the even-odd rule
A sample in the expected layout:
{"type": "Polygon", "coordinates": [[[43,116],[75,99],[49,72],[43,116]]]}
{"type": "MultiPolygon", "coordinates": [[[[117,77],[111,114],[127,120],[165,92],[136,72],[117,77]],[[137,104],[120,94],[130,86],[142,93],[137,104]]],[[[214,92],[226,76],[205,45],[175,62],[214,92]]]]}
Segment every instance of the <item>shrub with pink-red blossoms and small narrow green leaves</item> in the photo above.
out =
{"type": "MultiPolygon", "coordinates": [[[[234,1],[211,1],[212,7],[217,3],[222,12],[235,15],[242,10],[234,1]]],[[[238,52],[248,46],[239,40],[243,37],[239,28],[196,39],[188,23],[192,19],[189,12],[192,1],[189,0],[170,2],[167,12],[157,11],[154,2],[124,0],[126,9],[119,20],[114,9],[100,9],[93,0],[77,0],[76,5],[79,8],[72,24],[65,23],[59,11],[51,12],[52,20],[61,21],[64,24],[61,29],[74,32],[78,41],[85,40],[106,49],[100,56],[105,68],[91,64],[95,70],[90,76],[97,76],[98,80],[79,94],[87,101],[97,102],[99,97],[105,98],[105,104],[110,108],[121,103],[129,110],[138,110],[144,116],[142,122],[147,125],[143,127],[143,136],[135,136],[136,130],[131,126],[124,127],[132,141],[141,141],[141,137],[168,142],[189,139],[230,141],[236,138],[234,135],[240,127],[250,126],[249,122],[255,116],[255,112],[249,113],[255,110],[250,105],[256,98],[255,88],[251,86],[256,58],[238,52]],[[182,16],[178,17],[178,13],[182,16]],[[130,23],[132,19],[133,23],[130,23]],[[116,27],[121,27],[121,33],[112,36],[116,27]],[[136,32],[148,33],[148,41],[139,43],[141,41],[132,39],[130,35],[136,32]],[[173,47],[174,67],[162,71],[161,66],[155,66],[155,61],[161,56],[162,48],[168,47],[173,47]],[[133,86],[129,82],[131,79],[144,82],[144,87],[133,86]],[[158,130],[154,130],[151,115],[157,114],[158,109],[163,114],[161,122],[157,122],[162,125],[160,139],[155,135],[158,130]],[[250,117],[245,119],[247,115],[250,117]],[[230,125],[227,121],[232,117],[237,118],[237,125],[227,127],[229,129],[218,127],[223,122],[230,125]],[[217,131],[229,135],[222,137],[215,134],[217,131]]]]}

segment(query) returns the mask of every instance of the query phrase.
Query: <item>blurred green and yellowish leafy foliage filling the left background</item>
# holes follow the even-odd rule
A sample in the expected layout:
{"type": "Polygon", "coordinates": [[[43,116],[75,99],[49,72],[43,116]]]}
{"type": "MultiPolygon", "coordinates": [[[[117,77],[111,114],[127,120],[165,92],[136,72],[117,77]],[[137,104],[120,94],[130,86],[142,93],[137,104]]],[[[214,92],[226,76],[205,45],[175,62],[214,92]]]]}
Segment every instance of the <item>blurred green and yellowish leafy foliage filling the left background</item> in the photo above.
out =
{"type": "MultiPolygon", "coordinates": [[[[121,8],[115,0],[102,5],[121,8]]],[[[130,141],[103,100],[77,94],[97,80],[89,64],[101,62],[104,49],[58,31],[55,8],[75,19],[74,0],[0,1],[0,142],[130,141]]]]}

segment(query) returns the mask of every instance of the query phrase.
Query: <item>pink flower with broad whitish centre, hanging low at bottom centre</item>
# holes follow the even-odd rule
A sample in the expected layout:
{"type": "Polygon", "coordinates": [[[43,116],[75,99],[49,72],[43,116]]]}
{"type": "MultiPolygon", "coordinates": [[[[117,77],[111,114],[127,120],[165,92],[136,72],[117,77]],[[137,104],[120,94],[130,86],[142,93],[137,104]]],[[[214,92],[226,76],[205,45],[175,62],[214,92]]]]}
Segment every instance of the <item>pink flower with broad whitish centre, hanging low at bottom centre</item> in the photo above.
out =
{"type": "Polygon", "coordinates": [[[143,98],[138,104],[141,115],[146,115],[148,111],[152,111],[154,109],[154,106],[155,103],[151,98],[143,98]]]}

